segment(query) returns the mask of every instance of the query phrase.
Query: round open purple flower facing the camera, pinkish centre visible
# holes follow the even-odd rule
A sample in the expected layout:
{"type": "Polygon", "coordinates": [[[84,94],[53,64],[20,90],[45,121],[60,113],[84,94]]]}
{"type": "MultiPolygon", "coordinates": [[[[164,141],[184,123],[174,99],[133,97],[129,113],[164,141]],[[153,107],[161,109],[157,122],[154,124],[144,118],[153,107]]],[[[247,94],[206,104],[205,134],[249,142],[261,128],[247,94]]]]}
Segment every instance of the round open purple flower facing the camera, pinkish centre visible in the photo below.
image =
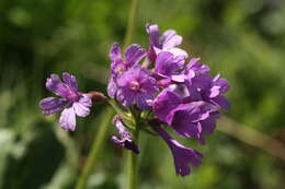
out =
{"type": "Polygon", "coordinates": [[[139,64],[122,73],[117,86],[117,99],[126,107],[135,103],[141,110],[150,108],[152,94],[158,91],[156,79],[139,64]]]}

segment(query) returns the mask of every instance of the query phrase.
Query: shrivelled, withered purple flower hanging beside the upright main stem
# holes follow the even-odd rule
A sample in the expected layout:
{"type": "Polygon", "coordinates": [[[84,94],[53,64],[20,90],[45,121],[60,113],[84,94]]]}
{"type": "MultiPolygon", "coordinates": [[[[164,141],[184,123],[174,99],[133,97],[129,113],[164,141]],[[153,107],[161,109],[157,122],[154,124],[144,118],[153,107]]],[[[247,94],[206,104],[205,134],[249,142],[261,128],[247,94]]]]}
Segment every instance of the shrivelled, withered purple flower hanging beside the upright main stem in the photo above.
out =
{"type": "Polygon", "coordinates": [[[129,133],[129,131],[127,130],[127,128],[123,125],[122,122],[122,118],[119,116],[115,116],[114,120],[113,120],[117,131],[118,131],[118,138],[116,135],[113,135],[111,138],[111,140],[119,146],[123,146],[127,150],[132,150],[135,153],[139,153],[140,150],[139,147],[135,144],[135,142],[133,141],[133,138],[129,133]]]}

